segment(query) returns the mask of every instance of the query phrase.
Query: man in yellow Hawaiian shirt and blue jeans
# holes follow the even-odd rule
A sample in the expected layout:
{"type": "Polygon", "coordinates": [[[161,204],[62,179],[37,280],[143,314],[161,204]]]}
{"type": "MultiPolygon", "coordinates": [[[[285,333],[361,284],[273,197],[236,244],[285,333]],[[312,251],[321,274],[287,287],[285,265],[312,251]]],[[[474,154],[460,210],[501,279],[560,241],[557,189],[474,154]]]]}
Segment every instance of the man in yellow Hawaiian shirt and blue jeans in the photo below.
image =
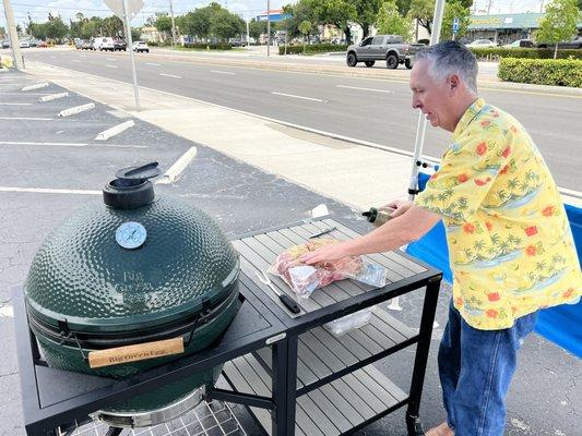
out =
{"type": "Polygon", "coordinates": [[[453,133],[415,203],[352,241],[321,247],[307,264],[394,250],[440,219],[447,228],[453,298],[439,348],[447,422],[430,436],[499,436],[506,395],[537,311],[581,295],[580,264],[556,183],[532,138],[477,96],[477,62],[446,41],[418,53],[413,108],[453,133]]]}

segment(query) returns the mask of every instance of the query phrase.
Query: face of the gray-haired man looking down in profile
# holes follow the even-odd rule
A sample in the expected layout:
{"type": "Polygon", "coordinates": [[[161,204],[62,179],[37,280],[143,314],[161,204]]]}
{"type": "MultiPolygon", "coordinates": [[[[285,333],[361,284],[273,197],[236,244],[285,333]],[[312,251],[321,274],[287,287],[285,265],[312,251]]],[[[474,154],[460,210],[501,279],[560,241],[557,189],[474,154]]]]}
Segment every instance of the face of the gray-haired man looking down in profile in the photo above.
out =
{"type": "Polygon", "coordinates": [[[420,109],[433,128],[454,131],[454,116],[451,110],[451,87],[448,81],[435,81],[428,68],[430,61],[421,59],[414,63],[411,72],[413,108],[420,109]]]}

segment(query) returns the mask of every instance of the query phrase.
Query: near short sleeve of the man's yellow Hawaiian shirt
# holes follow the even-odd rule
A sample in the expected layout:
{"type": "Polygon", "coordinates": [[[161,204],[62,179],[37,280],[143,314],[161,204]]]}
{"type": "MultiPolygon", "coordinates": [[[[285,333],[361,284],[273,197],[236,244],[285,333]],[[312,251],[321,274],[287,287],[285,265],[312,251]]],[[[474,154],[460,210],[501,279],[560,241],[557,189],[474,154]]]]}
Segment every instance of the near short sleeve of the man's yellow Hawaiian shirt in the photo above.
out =
{"type": "Polygon", "coordinates": [[[453,221],[470,221],[506,165],[500,137],[470,136],[453,143],[415,204],[453,221]]]}

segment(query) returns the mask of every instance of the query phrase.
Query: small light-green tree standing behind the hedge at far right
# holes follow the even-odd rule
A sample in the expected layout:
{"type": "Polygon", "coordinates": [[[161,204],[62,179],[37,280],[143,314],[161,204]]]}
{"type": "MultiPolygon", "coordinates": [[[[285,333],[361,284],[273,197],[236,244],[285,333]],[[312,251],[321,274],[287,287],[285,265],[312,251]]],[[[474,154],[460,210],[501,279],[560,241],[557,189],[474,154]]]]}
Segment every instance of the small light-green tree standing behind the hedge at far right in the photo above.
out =
{"type": "Polygon", "coordinates": [[[558,55],[558,43],[570,39],[577,33],[579,10],[577,0],[551,0],[536,32],[537,41],[553,43],[554,59],[558,55]]]}

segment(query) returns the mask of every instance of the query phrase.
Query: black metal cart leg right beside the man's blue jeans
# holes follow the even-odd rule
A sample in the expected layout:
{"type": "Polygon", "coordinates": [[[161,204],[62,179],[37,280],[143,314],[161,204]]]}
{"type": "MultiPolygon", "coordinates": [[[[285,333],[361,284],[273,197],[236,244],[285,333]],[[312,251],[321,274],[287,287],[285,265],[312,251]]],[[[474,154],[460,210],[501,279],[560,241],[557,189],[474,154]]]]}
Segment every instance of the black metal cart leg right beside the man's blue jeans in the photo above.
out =
{"type": "Polygon", "coordinates": [[[416,356],[414,359],[413,380],[411,383],[411,396],[408,409],[406,410],[406,427],[408,436],[424,435],[423,425],[418,417],[420,409],[420,397],[423,395],[423,385],[425,383],[425,373],[430,350],[430,339],[432,336],[432,323],[435,322],[435,312],[439,300],[440,277],[427,284],[425,293],[425,303],[423,305],[423,316],[420,318],[420,331],[418,344],[416,347],[416,356]]]}

